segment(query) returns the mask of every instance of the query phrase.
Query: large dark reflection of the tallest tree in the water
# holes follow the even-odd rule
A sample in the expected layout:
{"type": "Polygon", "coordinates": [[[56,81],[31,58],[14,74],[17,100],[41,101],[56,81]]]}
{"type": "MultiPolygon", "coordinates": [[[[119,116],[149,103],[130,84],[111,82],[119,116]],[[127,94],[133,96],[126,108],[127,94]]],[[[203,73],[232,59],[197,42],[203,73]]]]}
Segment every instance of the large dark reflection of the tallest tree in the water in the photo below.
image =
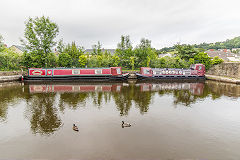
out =
{"type": "Polygon", "coordinates": [[[55,95],[55,93],[34,94],[27,101],[27,115],[34,134],[50,135],[61,126],[58,110],[54,106],[55,95]]]}

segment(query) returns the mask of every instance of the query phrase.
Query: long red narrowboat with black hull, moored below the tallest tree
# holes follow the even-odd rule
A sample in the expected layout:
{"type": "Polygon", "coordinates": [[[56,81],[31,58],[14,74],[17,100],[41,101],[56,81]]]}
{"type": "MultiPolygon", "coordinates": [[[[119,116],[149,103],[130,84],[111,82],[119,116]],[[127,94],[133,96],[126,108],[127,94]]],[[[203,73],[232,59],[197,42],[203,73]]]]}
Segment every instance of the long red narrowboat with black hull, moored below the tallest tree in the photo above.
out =
{"type": "Polygon", "coordinates": [[[108,81],[127,80],[121,67],[109,68],[29,68],[24,81],[108,81]]]}

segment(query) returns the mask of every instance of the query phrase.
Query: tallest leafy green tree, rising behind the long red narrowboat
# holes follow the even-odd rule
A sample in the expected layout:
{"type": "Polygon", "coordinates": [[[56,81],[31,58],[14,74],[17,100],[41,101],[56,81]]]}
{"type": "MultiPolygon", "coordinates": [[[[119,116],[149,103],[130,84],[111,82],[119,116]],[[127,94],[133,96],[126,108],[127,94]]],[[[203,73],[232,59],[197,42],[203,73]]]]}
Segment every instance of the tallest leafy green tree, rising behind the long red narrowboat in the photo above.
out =
{"type": "Polygon", "coordinates": [[[48,67],[50,65],[48,57],[56,45],[54,39],[59,32],[57,24],[42,16],[29,18],[25,25],[26,40],[22,39],[21,42],[35,61],[34,67],[48,67]]]}

